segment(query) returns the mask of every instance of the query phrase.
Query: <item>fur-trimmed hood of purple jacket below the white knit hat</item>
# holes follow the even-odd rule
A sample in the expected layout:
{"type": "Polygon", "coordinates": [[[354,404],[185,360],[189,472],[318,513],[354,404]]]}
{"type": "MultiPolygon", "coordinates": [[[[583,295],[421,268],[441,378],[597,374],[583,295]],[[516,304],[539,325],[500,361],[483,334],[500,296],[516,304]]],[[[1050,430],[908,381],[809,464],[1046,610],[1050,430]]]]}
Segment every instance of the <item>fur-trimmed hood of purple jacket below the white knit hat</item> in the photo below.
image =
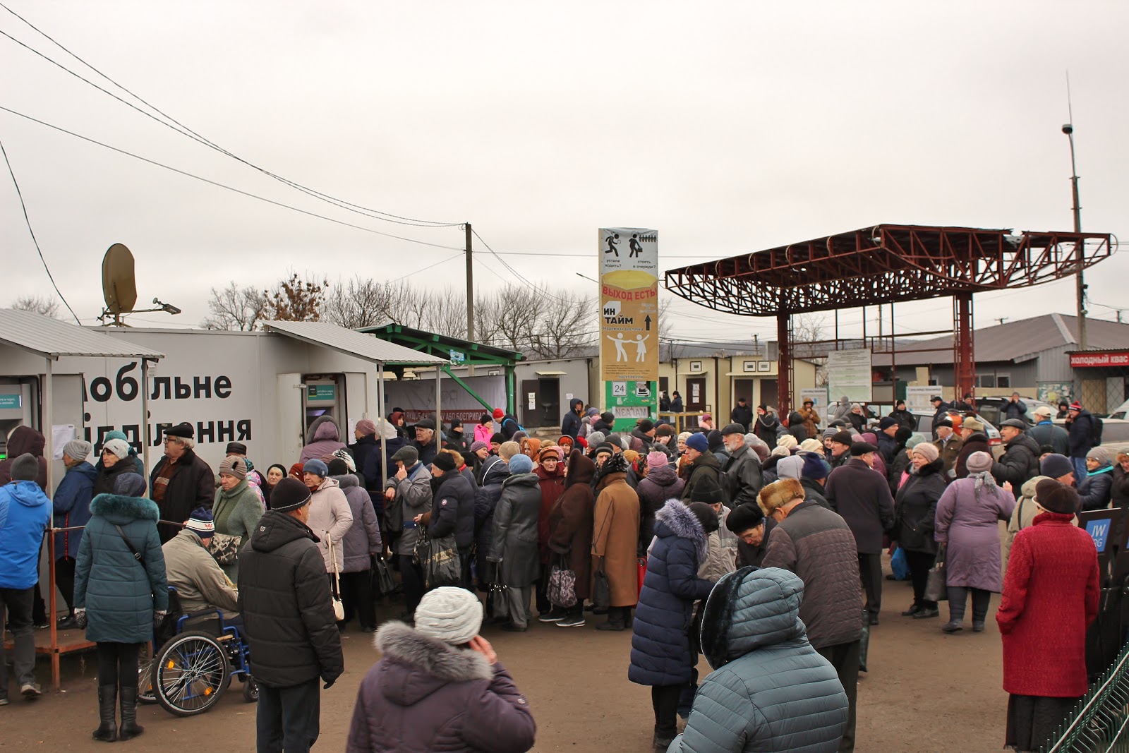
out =
{"type": "Polygon", "coordinates": [[[493,678],[487,658],[425,636],[403,622],[386,622],[373,640],[385,664],[384,697],[396,706],[414,706],[444,685],[493,678]]]}

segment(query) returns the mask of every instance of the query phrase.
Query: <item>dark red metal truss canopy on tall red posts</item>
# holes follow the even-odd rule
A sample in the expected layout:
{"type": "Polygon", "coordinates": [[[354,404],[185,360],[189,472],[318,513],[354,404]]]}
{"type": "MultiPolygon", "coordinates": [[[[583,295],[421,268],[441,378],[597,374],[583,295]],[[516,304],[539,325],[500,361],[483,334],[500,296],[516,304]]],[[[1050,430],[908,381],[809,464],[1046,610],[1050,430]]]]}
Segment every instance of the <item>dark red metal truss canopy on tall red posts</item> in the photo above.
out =
{"type": "Polygon", "coordinates": [[[957,394],[973,393],[972,294],[1025,288],[1108,259],[1110,234],[875,225],[668,270],[666,289],[717,312],[776,316],[780,411],[791,400],[791,315],[953,297],[957,394]]]}

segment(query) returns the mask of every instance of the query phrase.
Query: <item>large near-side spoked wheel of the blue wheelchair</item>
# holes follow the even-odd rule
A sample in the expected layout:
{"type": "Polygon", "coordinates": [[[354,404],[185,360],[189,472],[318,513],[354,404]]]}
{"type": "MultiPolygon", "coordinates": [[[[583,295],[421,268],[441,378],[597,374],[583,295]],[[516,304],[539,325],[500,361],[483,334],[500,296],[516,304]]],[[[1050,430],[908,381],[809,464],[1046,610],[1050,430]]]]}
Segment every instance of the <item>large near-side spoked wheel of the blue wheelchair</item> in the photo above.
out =
{"type": "Polygon", "coordinates": [[[160,649],[152,686],[165,710],[178,717],[203,713],[230,682],[227,650],[207,632],[184,632],[160,649]]]}

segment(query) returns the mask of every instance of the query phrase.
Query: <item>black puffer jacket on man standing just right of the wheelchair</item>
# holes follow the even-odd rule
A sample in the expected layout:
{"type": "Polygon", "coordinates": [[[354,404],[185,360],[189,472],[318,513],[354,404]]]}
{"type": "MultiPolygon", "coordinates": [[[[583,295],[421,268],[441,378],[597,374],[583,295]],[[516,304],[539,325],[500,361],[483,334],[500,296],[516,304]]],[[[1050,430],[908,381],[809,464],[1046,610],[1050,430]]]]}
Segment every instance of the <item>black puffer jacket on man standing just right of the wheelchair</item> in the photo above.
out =
{"type": "Polygon", "coordinates": [[[297,518],[268,510],[259,519],[239,553],[239,612],[255,681],[291,688],[344,671],[325,560],[297,518]]]}

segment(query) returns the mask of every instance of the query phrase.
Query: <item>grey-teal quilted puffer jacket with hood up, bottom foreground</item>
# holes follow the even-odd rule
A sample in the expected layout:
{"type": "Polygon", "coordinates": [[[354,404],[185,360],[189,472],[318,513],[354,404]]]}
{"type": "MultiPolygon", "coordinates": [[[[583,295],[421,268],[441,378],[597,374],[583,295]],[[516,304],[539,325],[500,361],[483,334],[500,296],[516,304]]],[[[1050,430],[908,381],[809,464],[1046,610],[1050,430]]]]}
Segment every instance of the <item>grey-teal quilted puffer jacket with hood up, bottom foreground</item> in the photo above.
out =
{"type": "Polygon", "coordinates": [[[742,568],[706,602],[702,653],[714,672],[671,753],[835,753],[847,695],[799,620],[804,583],[780,568],[742,568]]]}

